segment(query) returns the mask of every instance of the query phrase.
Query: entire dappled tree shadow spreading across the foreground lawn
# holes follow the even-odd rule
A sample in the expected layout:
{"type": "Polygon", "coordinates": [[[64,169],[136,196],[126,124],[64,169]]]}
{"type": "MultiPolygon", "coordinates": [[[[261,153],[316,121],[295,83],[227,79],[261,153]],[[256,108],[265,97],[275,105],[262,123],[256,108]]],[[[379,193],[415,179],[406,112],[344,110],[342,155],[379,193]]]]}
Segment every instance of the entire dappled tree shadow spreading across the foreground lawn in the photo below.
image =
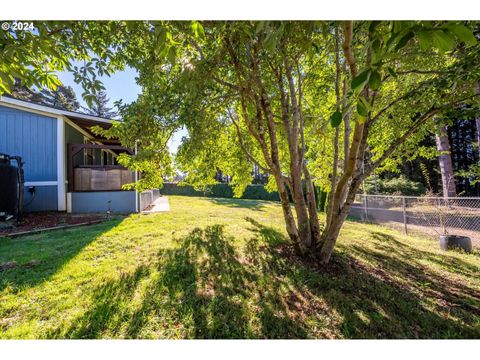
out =
{"type": "Polygon", "coordinates": [[[391,256],[353,244],[320,267],[276,229],[247,221],[243,248],[221,225],[194,229],[155,264],[97,288],[90,308],[51,337],[480,337],[478,294],[419,272],[409,257],[421,254],[394,237],[375,240],[391,243],[391,256]]]}

